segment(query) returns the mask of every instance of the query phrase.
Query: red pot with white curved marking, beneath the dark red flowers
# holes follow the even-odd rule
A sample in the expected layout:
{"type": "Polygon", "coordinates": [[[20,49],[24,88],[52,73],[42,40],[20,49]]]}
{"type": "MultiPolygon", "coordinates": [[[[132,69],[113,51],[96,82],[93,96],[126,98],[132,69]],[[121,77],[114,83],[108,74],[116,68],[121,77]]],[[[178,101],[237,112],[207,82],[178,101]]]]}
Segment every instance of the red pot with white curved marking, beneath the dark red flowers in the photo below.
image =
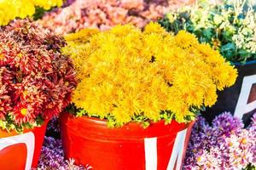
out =
{"type": "Polygon", "coordinates": [[[29,170],[38,167],[47,122],[24,133],[0,130],[0,169],[29,170]]]}

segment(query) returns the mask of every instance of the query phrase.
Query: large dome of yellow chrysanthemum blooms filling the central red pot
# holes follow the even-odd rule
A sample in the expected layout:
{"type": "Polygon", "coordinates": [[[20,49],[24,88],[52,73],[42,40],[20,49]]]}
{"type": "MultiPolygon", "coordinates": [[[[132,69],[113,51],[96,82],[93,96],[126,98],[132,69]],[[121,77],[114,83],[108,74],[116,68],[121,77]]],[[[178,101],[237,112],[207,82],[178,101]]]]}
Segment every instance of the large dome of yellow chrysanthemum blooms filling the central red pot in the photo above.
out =
{"type": "Polygon", "coordinates": [[[195,108],[216,102],[217,89],[236,82],[236,69],[218,51],[186,31],[173,36],[156,23],[144,31],[126,25],[65,38],[62,52],[73,59],[79,79],[74,105],[89,116],[113,117],[119,126],[136,116],[157,122],[164,112],[189,122],[195,108]]]}

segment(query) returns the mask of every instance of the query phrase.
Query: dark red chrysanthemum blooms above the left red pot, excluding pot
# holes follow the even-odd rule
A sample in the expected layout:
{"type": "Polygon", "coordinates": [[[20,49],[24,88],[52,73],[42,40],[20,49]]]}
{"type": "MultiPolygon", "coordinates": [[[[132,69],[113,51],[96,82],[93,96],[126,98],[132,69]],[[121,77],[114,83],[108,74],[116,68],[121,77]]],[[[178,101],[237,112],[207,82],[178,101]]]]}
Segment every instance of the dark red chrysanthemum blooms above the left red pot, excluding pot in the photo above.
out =
{"type": "Polygon", "coordinates": [[[29,20],[0,28],[0,127],[22,131],[56,116],[76,85],[62,38],[29,20]]]}

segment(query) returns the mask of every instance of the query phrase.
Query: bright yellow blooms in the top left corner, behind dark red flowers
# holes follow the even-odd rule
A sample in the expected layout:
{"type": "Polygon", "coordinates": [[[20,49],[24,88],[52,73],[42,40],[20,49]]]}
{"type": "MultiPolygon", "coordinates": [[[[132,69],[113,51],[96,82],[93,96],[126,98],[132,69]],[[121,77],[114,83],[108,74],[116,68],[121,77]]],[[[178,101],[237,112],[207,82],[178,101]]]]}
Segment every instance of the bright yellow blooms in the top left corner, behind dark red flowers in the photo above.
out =
{"type": "Polygon", "coordinates": [[[35,7],[49,9],[61,5],[62,0],[0,0],[0,26],[7,25],[16,17],[32,16],[35,7]]]}

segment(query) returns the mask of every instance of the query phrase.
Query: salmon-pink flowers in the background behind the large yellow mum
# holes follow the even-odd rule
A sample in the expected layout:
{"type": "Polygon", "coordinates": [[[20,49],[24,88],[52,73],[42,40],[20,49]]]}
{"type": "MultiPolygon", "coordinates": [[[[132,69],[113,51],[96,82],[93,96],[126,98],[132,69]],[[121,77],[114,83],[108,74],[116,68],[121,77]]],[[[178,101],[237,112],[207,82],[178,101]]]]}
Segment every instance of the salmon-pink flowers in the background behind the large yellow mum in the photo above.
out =
{"type": "Polygon", "coordinates": [[[45,14],[41,24],[58,34],[79,31],[86,27],[108,29],[118,24],[145,26],[158,20],[170,8],[191,3],[191,0],[76,0],[70,6],[45,14]]]}

